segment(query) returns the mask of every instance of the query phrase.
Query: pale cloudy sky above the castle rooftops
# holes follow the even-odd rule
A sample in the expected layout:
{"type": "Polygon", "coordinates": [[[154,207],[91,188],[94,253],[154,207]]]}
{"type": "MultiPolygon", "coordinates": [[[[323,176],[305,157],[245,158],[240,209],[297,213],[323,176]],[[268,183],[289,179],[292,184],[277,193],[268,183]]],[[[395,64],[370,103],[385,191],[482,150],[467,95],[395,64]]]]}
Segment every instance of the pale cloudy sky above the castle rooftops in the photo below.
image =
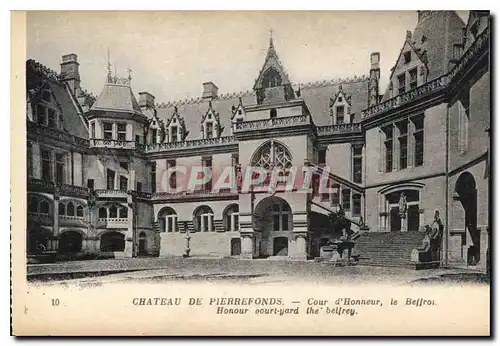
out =
{"type": "Polygon", "coordinates": [[[199,97],[208,81],[220,94],[250,90],[272,30],[292,83],[368,75],[370,54],[380,52],[384,90],[416,24],[416,11],[33,11],[26,54],[58,72],[62,55],[77,54],[82,87],[99,95],[109,51],[118,76],[132,70],[134,93],[161,103],[199,97]]]}

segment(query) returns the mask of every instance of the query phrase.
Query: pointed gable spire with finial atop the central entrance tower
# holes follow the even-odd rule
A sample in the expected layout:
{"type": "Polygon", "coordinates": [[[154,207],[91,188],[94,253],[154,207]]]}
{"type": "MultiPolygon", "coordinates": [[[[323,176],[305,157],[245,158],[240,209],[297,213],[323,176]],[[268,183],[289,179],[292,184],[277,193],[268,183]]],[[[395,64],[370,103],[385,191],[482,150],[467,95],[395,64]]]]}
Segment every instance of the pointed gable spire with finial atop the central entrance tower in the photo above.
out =
{"type": "Polygon", "coordinates": [[[259,72],[253,89],[257,94],[257,103],[280,103],[295,97],[292,85],[274,49],[273,30],[269,30],[269,48],[264,65],[259,72]]]}

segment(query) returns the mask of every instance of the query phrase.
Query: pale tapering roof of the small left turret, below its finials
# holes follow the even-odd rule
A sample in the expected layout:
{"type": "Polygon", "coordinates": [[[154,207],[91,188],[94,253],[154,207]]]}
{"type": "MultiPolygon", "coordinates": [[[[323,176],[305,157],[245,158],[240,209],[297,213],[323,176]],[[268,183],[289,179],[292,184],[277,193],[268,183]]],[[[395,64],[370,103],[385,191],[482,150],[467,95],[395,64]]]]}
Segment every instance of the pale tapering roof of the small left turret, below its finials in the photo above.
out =
{"type": "Polygon", "coordinates": [[[132,89],[125,84],[104,84],[91,110],[115,111],[143,115],[132,89]]]}

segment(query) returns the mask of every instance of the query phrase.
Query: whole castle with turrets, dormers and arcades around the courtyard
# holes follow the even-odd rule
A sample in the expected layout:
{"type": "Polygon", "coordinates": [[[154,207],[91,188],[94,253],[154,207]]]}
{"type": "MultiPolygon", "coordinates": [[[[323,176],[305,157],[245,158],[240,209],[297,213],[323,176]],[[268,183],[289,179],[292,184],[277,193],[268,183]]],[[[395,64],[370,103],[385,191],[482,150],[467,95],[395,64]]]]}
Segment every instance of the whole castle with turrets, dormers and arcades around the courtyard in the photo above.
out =
{"type": "Polygon", "coordinates": [[[28,60],[28,255],[305,260],[332,240],[330,216],[342,211],[374,262],[405,263],[416,251],[486,267],[489,46],[489,12],[464,23],[419,11],[390,57],[386,90],[379,53],[367,76],[296,85],[271,38],[251,91],[219,94],[206,82],[201,97],[166,104],[136,97],[110,69],[93,96],[76,54],[60,73],[28,60]],[[193,167],[206,179],[188,186],[193,167]],[[314,168],[328,190],[245,190],[238,179],[215,189],[226,168],[252,167],[283,181],[314,168]],[[436,220],[443,232],[433,238],[425,226],[436,220]]]}

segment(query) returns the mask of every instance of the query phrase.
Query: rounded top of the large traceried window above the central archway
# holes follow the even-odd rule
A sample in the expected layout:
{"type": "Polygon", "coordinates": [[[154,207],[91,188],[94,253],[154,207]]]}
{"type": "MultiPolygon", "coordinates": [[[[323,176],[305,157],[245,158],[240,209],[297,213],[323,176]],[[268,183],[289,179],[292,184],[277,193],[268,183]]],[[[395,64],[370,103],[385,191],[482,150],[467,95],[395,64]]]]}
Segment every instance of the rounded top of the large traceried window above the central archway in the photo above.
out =
{"type": "Polygon", "coordinates": [[[271,170],[275,167],[288,169],[292,167],[292,155],[280,142],[271,140],[262,145],[252,158],[253,167],[271,170]]]}

